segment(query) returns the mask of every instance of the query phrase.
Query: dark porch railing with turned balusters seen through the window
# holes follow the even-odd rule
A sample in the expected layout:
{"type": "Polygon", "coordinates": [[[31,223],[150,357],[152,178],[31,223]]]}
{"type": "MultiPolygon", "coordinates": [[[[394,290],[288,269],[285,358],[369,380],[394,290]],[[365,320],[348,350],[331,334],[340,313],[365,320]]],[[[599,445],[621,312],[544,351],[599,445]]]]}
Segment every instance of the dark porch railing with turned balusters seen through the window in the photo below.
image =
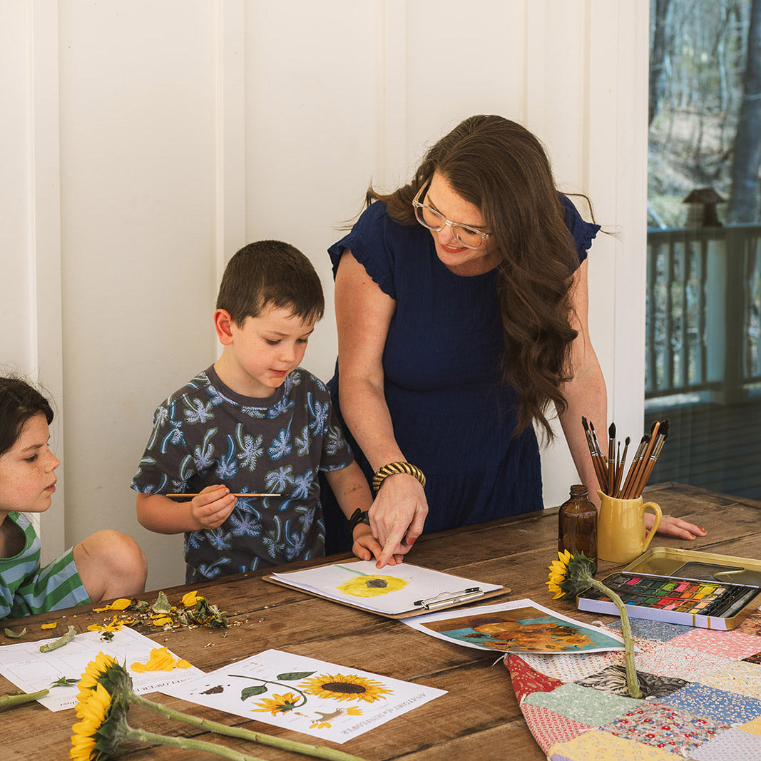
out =
{"type": "Polygon", "coordinates": [[[761,384],[761,225],[648,230],[645,396],[761,384]]]}

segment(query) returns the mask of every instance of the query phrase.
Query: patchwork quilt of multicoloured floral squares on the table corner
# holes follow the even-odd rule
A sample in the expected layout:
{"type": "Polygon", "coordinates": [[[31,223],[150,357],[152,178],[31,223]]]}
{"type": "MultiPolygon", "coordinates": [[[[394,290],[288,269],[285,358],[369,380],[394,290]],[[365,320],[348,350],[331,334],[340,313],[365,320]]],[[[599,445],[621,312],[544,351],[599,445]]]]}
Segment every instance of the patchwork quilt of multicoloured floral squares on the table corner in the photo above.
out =
{"type": "MultiPolygon", "coordinates": [[[[729,632],[630,620],[639,700],[626,689],[622,651],[505,658],[547,758],[759,761],[761,609],[729,632]]],[[[619,633],[620,620],[607,628],[619,633]]]]}

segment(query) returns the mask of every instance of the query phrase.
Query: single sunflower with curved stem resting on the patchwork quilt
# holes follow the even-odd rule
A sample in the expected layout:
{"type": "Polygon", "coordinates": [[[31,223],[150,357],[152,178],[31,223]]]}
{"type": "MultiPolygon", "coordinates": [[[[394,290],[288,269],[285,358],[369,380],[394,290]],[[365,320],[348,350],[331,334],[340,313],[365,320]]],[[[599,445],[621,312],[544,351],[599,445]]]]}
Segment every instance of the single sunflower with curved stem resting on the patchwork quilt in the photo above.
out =
{"type": "Polygon", "coordinates": [[[626,650],[626,685],[629,687],[629,696],[641,698],[642,691],[639,689],[639,680],[634,665],[632,626],[629,624],[629,613],[626,612],[626,605],[612,589],[608,589],[601,581],[593,578],[593,573],[593,560],[587,558],[584,552],[572,555],[566,549],[564,552],[558,552],[558,559],[549,564],[549,581],[545,583],[549,591],[554,593],[553,600],[560,600],[563,597],[576,597],[587,587],[599,589],[610,597],[618,609],[619,616],[621,616],[621,635],[626,650]]]}

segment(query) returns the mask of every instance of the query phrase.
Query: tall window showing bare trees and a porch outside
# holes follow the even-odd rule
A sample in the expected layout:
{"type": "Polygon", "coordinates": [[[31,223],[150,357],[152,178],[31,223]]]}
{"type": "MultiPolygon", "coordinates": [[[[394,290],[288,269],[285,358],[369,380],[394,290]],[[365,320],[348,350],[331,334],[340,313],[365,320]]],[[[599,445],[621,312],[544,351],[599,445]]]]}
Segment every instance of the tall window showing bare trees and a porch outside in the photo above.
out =
{"type": "Polygon", "coordinates": [[[651,483],[761,499],[761,0],[651,0],[651,483]]]}

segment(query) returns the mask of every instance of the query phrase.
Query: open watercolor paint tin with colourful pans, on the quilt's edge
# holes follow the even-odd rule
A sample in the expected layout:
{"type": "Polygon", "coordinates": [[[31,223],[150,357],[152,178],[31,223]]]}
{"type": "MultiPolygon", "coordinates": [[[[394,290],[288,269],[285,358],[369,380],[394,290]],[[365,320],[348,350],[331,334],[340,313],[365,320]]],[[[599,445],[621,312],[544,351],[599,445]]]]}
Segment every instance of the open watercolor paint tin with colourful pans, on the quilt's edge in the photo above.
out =
{"type": "MultiPolygon", "coordinates": [[[[602,579],[626,603],[630,618],[703,629],[734,629],[761,605],[761,560],[652,547],[602,579]]],[[[579,610],[618,615],[603,592],[589,587],[579,610]]]]}

